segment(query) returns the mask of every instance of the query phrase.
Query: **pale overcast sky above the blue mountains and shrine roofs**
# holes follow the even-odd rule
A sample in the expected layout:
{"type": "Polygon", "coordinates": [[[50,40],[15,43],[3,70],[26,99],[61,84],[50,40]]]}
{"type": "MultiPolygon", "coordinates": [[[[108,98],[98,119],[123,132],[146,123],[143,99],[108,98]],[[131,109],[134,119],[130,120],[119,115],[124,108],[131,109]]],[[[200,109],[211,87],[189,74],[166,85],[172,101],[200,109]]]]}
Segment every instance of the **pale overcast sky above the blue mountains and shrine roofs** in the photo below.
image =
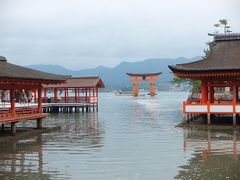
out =
{"type": "Polygon", "coordinates": [[[0,0],[0,55],[71,69],[202,55],[220,18],[240,32],[239,0],[0,0]]]}

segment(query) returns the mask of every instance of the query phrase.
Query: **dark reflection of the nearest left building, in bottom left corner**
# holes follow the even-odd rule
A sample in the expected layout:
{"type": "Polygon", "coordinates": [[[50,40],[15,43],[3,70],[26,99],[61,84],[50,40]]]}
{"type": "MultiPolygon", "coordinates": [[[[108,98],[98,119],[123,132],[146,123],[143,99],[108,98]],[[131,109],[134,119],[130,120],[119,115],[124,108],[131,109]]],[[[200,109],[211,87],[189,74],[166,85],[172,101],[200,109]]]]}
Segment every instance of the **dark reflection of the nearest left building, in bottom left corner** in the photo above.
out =
{"type": "Polygon", "coordinates": [[[44,170],[42,135],[1,144],[0,179],[50,179],[59,172],[44,170]]]}

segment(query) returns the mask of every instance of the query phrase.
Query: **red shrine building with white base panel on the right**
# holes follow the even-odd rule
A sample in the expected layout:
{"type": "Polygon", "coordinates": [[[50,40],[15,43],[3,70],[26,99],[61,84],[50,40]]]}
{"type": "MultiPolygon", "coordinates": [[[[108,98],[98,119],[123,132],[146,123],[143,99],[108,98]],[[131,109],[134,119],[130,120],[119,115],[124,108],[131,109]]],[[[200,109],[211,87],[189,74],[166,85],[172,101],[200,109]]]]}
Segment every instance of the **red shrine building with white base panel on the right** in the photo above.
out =
{"type": "Polygon", "coordinates": [[[209,47],[206,58],[169,66],[175,76],[201,82],[200,99],[184,101],[183,113],[206,114],[208,124],[213,115],[231,115],[236,125],[240,114],[240,34],[214,35],[209,47]]]}

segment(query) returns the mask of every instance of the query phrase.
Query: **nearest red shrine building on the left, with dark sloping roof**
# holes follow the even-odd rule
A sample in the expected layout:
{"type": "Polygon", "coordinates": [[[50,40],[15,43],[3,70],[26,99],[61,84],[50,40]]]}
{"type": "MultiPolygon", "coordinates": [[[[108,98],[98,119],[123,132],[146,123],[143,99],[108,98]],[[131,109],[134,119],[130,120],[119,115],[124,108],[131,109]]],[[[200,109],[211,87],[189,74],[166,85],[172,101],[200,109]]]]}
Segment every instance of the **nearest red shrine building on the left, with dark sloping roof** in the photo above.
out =
{"type": "Polygon", "coordinates": [[[36,120],[37,128],[42,128],[42,118],[47,117],[47,114],[42,112],[42,84],[63,83],[69,76],[45,73],[10,64],[2,56],[0,56],[0,71],[2,100],[0,124],[2,130],[4,130],[6,123],[10,123],[11,133],[15,135],[16,123],[23,120],[36,120]],[[35,92],[35,100],[37,99],[36,105],[34,107],[19,107],[18,103],[25,99],[26,93],[32,96],[33,91],[35,92]],[[8,103],[8,107],[6,103],[8,103]]]}

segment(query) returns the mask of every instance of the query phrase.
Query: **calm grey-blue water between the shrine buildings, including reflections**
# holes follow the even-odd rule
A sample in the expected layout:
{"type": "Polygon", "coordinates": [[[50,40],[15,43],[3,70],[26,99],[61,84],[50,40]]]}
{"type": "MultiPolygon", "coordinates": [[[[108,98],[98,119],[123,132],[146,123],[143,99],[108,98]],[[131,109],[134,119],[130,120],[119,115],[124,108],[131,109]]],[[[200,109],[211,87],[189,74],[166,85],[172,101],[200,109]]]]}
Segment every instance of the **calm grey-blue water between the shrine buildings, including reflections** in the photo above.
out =
{"type": "Polygon", "coordinates": [[[238,131],[175,128],[187,95],[104,93],[98,113],[50,115],[61,130],[0,145],[0,179],[240,179],[238,131]]]}

